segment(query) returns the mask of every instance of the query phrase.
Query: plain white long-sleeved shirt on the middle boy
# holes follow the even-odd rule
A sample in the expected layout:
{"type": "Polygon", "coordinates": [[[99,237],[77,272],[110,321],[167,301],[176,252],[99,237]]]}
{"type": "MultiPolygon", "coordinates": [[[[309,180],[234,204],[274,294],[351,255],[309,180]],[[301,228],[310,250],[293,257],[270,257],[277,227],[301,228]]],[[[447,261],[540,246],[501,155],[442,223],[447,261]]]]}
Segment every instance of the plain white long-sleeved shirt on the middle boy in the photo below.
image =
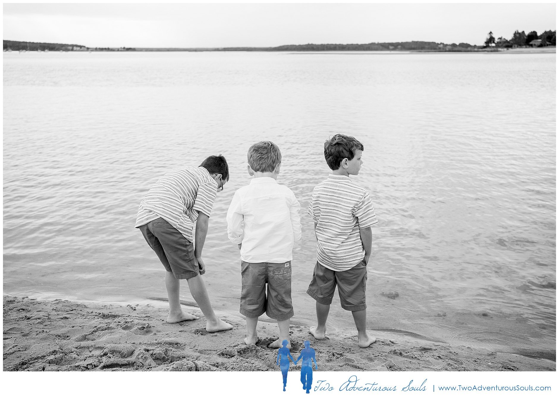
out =
{"type": "Polygon", "coordinates": [[[241,244],[241,260],[250,263],[291,261],[293,242],[301,239],[295,194],[270,177],[253,178],[237,189],[227,212],[229,240],[241,244]]]}

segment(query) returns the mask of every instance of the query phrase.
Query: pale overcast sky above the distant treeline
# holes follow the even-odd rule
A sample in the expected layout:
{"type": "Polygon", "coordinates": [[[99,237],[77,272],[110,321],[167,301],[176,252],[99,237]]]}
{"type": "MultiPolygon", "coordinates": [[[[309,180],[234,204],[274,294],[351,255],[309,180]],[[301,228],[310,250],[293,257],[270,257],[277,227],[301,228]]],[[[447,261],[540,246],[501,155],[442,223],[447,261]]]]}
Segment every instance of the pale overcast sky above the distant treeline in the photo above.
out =
{"type": "Polygon", "coordinates": [[[3,39],[89,47],[435,41],[556,29],[555,3],[4,3],[3,39]]]}

